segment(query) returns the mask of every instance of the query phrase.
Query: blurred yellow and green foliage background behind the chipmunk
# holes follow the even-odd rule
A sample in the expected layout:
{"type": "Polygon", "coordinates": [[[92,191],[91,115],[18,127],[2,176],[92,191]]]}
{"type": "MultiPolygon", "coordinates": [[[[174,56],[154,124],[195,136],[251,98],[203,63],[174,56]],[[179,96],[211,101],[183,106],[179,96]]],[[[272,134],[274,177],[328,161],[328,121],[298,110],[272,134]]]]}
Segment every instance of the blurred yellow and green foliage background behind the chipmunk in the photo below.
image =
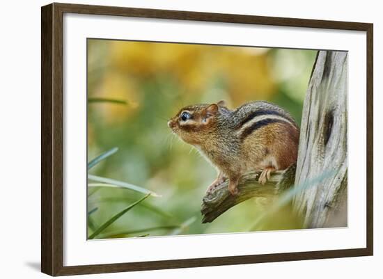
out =
{"type": "Polygon", "coordinates": [[[188,104],[224,99],[234,109],[262,99],[300,123],[316,53],[88,39],[88,162],[113,153],[99,157],[88,173],[160,195],[127,209],[145,194],[89,181],[88,237],[302,228],[299,216],[286,207],[255,226],[267,210],[262,199],[242,202],[202,224],[201,200],[216,171],[173,136],[166,122],[188,104]]]}

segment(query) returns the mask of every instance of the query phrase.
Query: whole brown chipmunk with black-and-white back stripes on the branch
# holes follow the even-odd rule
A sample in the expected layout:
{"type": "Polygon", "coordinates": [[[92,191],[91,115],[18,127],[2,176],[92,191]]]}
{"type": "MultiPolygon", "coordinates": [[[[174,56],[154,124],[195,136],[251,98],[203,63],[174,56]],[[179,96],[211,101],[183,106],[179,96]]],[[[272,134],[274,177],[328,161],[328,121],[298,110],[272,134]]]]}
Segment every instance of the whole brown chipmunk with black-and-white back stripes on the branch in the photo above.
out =
{"type": "Polygon", "coordinates": [[[258,182],[265,184],[274,170],[297,161],[297,123],[269,102],[248,102],[235,110],[224,101],[194,104],[181,109],[168,126],[219,170],[208,192],[228,179],[228,189],[236,195],[244,173],[262,171],[258,182]]]}

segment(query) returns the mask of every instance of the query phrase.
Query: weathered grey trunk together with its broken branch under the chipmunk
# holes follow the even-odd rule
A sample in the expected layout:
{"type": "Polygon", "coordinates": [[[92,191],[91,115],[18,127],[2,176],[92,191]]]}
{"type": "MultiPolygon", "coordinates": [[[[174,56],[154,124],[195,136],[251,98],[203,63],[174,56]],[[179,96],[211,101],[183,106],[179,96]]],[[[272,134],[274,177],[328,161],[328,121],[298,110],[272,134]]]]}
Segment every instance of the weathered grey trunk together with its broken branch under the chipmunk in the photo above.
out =
{"type": "Polygon", "coordinates": [[[203,198],[203,223],[253,197],[272,200],[292,184],[293,207],[304,216],[306,228],[347,225],[347,52],[319,51],[313,67],[302,114],[297,164],[276,172],[266,185],[255,173],[240,180],[238,196],[228,182],[203,198]],[[331,170],[331,171],[329,171],[331,170]],[[326,174],[326,175],[324,175],[326,174]],[[315,185],[310,182],[317,181],[315,185]]]}

